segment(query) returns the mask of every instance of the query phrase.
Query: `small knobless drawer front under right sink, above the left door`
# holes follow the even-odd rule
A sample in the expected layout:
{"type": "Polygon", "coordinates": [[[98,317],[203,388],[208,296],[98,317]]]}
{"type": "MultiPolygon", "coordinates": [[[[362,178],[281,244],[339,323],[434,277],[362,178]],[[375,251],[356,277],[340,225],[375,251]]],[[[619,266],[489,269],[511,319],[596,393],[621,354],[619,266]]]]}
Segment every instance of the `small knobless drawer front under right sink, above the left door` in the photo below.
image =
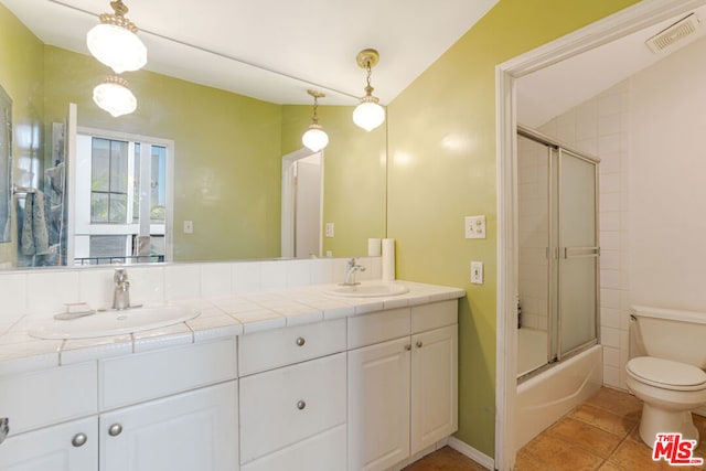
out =
{"type": "Polygon", "coordinates": [[[409,335],[409,308],[349,318],[349,350],[409,335]]]}

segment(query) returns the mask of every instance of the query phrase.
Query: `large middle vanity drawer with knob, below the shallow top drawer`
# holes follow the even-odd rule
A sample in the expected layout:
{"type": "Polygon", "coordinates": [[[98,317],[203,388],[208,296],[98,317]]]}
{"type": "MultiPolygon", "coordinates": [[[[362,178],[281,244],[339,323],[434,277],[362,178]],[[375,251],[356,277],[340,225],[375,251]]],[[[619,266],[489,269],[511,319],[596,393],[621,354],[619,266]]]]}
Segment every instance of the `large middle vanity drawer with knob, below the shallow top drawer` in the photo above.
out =
{"type": "Polygon", "coordinates": [[[345,424],[345,353],[240,379],[240,463],[345,424]]]}

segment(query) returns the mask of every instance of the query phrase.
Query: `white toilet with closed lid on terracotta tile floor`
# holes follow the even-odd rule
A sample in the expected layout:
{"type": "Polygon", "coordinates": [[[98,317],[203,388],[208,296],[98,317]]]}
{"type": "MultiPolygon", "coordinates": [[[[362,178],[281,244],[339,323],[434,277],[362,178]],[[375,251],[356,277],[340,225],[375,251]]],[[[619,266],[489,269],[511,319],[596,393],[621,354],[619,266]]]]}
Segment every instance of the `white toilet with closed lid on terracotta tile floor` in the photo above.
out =
{"type": "Polygon", "coordinates": [[[644,405],[640,437],[681,432],[698,442],[692,410],[706,405],[706,313],[632,307],[628,388],[644,405]]]}

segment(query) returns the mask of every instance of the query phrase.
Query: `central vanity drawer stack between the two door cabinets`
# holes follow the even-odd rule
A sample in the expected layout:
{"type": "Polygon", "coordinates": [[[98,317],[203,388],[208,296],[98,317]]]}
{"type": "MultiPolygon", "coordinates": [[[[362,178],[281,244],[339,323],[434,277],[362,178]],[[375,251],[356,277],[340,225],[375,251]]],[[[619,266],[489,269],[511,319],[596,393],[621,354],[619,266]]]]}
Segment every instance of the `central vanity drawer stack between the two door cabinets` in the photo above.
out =
{"type": "Polygon", "coordinates": [[[344,319],[240,338],[243,471],[345,470],[345,355],[344,319]]]}

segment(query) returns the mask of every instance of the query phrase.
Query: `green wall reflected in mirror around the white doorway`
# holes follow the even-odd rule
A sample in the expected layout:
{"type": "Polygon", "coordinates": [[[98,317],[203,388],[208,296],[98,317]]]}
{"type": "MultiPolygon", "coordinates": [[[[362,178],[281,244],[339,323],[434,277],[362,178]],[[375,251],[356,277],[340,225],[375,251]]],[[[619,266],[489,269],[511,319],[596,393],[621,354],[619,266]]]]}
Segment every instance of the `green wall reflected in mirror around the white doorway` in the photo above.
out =
{"type": "MultiPolygon", "coordinates": [[[[302,148],[311,124],[311,106],[282,107],[282,150],[302,148]]],[[[319,124],[329,135],[323,151],[323,221],[335,224],[334,237],[323,237],[332,256],[367,254],[368,237],[385,237],[386,129],[366,132],[353,124],[353,106],[319,106],[319,124]]]]}

